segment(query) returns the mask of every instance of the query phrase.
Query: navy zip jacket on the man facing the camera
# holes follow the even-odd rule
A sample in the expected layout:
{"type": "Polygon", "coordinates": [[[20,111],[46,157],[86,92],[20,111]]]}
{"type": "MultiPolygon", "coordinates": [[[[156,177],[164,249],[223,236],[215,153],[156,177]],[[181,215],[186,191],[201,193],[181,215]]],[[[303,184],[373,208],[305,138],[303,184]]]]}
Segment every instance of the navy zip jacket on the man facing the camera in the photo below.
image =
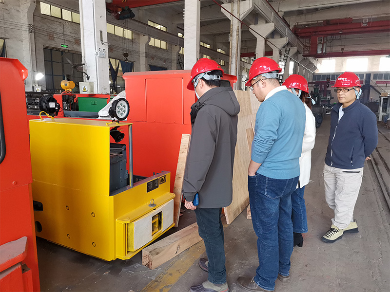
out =
{"type": "Polygon", "coordinates": [[[342,169],[361,168],[378,144],[376,115],[357,99],[343,109],[344,115],[338,121],[341,106],[338,103],[331,110],[331,133],[325,163],[342,169]]]}

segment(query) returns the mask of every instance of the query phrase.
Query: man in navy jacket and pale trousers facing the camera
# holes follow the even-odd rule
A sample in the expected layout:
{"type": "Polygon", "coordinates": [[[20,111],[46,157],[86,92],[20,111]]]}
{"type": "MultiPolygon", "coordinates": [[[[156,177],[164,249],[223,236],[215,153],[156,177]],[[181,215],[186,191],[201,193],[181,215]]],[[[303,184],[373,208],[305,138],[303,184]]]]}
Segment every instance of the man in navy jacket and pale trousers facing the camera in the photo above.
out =
{"type": "Polygon", "coordinates": [[[375,114],[359,101],[362,93],[359,77],[345,72],[334,86],[338,104],[331,111],[331,133],[325,157],[326,201],[334,210],[331,228],[321,237],[332,243],[346,232],[356,233],[353,209],[363,177],[364,161],[378,144],[375,114]]]}

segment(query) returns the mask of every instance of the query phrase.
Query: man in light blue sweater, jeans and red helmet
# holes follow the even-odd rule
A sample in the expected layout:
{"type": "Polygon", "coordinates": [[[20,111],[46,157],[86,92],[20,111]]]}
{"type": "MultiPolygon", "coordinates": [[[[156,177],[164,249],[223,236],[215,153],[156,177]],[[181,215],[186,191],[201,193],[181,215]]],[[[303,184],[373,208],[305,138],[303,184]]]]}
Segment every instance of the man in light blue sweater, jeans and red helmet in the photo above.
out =
{"type": "Polygon", "coordinates": [[[299,178],[299,156],[305,130],[302,101],[280,86],[279,65],[258,58],[249,71],[246,86],[262,102],[255,123],[248,190],[252,223],[258,237],[259,267],[253,278],[239,277],[249,291],[273,291],[276,278],[290,280],[292,254],[291,194],[299,178]]]}

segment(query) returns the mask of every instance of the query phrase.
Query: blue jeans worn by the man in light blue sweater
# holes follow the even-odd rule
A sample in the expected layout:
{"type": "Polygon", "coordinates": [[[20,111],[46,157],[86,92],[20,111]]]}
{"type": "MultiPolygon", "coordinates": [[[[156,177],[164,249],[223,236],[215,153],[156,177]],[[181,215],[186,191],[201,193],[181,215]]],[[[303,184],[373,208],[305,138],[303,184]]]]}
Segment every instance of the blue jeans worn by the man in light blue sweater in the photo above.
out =
{"type": "Polygon", "coordinates": [[[257,235],[259,266],[254,281],[274,290],[277,274],[290,274],[293,247],[291,194],[299,177],[277,180],[256,173],[248,177],[252,223],[257,235]]]}

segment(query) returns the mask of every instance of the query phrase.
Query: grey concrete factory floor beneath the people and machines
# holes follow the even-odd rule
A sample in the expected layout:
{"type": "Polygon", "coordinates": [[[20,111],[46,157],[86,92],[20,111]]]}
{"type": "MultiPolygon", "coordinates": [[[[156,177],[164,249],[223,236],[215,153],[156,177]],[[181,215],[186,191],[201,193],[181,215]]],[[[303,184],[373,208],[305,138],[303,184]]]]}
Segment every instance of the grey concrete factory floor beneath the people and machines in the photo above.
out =
{"type": "MultiPolygon", "coordinates": [[[[346,234],[332,244],[320,240],[332,218],[332,210],[325,202],[322,178],[329,127],[330,117],[326,116],[317,129],[312,151],[312,182],[305,191],[309,232],[304,235],[303,247],[296,247],[292,253],[291,283],[276,280],[275,291],[389,292],[390,211],[371,163],[365,165],[354,212],[359,233],[346,234]]],[[[389,131],[384,131],[389,137],[389,131]]],[[[389,142],[379,136],[378,149],[389,160],[389,142]]],[[[193,222],[194,212],[186,211],[179,227],[193,222]]],[[[41,238],[37,240],[42,291],[184,292],[207,279],[207,273],[197,265],[198,258],[205,256],[203,241],[150,270],[142,266],[141,253],[130,260],[105,262],[41,238]]],[[[258,265],[256,236],[251,220],[246,219],[246,209],[225,228],[225,251],[231,292],[243,292],[236,284],[237,277],[253,276],[258,265]]]]}

